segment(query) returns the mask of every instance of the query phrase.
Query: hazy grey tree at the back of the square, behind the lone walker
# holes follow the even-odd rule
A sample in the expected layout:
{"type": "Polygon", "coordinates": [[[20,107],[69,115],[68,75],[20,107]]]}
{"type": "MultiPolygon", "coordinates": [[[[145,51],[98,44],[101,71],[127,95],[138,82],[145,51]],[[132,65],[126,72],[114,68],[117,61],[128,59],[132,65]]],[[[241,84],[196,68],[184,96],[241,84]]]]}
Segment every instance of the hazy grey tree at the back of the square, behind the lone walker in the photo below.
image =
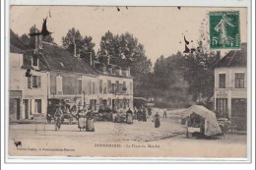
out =
{"type": "Polygon", "coordinates": [[[183,107],[189,103],[187,94],[188,85],[183,79],[183,56],[180,52],[167,58],[162,55],[154,67],[154,76],[148,90],[155,98],[158,106],[183,107]]]}

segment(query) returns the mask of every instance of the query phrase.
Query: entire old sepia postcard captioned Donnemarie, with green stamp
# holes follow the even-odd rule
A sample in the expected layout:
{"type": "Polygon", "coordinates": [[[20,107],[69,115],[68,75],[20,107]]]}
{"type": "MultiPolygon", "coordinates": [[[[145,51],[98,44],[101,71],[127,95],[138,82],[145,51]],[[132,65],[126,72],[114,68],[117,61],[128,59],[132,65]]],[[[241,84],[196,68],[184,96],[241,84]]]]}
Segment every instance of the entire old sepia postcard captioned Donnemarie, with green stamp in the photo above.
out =
{"type": "Polygon", "coordinates": [[[9,10],[9,157],[248,159],[246,7],[9,10]]]}

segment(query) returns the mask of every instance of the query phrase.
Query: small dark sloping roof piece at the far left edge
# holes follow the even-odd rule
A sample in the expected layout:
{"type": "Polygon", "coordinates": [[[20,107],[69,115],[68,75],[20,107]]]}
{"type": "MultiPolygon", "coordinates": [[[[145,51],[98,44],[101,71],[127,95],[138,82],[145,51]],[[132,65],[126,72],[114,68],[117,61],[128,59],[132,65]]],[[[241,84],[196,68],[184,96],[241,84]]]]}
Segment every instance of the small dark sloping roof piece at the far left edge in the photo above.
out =
{"type": "Polygon", "coordinates": [[[28,46],[25,45],[22,40],[10,29],[10,51],[11,52],[22,52],[22,50],[27,50],[28,46]]]}

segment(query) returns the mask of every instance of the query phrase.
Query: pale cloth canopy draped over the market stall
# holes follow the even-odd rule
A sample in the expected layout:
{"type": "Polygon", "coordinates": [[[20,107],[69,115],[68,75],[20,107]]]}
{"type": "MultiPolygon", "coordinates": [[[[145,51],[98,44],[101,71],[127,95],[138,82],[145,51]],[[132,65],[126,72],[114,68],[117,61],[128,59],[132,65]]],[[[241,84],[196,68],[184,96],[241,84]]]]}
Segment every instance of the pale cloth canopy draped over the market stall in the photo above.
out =
{"type": "Polygon", "coordinates": [[[190,117],[192,113],[195,113],[206,120],[205,123],[207,124],[207,126],[205,129],[205,136],[215,136],[218,134],[222,134],[222,130],[217,122],[214,112],[208,110],[204,106],[193,105],[181,113],[181,119],[190,117]]]}

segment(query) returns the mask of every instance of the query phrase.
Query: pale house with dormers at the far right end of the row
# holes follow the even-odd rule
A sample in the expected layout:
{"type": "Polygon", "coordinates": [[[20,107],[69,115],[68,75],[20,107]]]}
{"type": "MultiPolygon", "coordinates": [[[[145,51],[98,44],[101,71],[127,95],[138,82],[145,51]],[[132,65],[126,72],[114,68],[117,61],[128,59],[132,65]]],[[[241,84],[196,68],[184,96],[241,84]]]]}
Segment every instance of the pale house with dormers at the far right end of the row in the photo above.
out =
{"type": "Polygon", "coordinates": [[[130,68],[121,69],[109,63],[94,63],[98,77],[99,109],[133,109],[133,78],[130,68]]]}

